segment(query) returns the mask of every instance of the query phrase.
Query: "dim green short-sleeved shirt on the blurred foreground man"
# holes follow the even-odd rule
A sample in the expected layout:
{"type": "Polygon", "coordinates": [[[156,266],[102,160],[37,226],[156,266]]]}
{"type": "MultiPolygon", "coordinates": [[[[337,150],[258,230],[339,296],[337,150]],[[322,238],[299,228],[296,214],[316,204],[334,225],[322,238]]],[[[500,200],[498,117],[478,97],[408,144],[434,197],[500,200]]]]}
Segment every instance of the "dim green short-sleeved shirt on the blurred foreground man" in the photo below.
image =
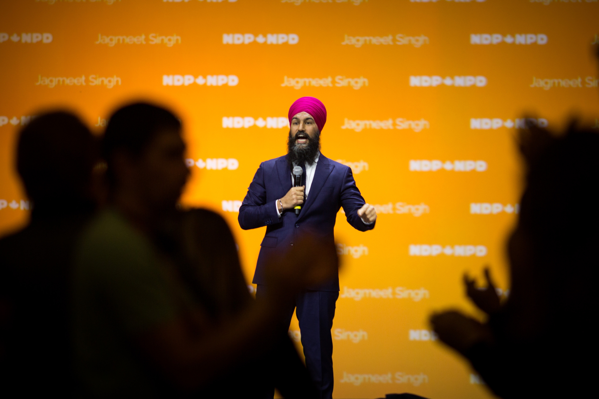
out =
{"type": "Polygon", "coordinates": [[[172,280],[152,242],[122,215],[107,209],[92,220],[75,251],[73,279],[75,370],[84,396],[165,393],[131,337],[176,318],[172,280]]]}

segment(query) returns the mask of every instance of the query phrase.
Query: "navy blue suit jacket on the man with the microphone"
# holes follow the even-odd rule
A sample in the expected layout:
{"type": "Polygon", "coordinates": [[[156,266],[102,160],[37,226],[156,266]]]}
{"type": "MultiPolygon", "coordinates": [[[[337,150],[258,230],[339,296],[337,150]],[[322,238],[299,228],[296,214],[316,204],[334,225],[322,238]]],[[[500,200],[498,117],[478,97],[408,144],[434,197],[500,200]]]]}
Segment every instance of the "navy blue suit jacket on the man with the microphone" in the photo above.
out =
{"type": "MultiPolygon", "coordinates": [[[[252,281],[254,284],[265,284],[264,267],[268,257],[275,251],[289,248],[298,234],[306,229],[318,234],[330,245],[335,245],[333,229],[341,206],[347,222],[355,229],[361,232],[374,229],[374,223],[364,224],[358,216],[358,209],[365,202],[356,187],[352,169],[328,159],[322,153],[301,212],[295,215],[293,210],[285,211],[279,219],[276,200],[284,197],[291,187],[291,169],[285,156],[262,162],[239,208],[241,229],[267,226],[252,281]]],[[[332,281],[309,288],[339,291],[339,278],[337,276],[332,281]]]]}

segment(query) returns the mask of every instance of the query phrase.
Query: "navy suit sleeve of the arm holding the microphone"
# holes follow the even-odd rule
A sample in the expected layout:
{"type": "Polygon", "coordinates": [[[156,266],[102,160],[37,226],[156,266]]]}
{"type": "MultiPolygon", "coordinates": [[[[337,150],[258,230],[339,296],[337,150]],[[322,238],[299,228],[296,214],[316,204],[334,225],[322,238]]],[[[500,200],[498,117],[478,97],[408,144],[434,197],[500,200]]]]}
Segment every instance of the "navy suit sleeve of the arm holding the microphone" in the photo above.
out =
{"type": "Polygon", "coordinates": [[[279,215],[277,215],[277,200],[268,203],[266,201],[264,163],[261,163],[239,208],[238,221],[241,229],[256,229],[281,223],[279,215]]]}

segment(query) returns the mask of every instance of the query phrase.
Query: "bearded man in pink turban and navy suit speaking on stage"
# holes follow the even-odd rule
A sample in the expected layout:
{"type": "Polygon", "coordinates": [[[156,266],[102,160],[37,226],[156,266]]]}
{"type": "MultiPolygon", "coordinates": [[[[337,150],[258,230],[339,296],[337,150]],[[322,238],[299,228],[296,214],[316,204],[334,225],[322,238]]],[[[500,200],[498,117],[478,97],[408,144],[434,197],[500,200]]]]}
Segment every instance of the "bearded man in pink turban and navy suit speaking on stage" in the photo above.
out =
{"type": "MultiPolygon", "coordinates": [[[[267,259],[294,245],[299,234],[316,234],[334,246],[333,230],[341,206],[356,230],[372,230],[376,220],[376,211],[362,198],[352,170],[320,153],[320,132],[326,122],[323,103],[313,97],[300,98],[288,117],[288,154],[261,163],[239,209],[241,229],[267,226],[253,278],[258,285],[257,300],[268,289],[264,285],[267,259]],[[302,168],[300,187],[292,187],[294,166],[302,168]],[[301,206],[299,215],[294,211],[297,206],[301,206]]],[[[288,328],[297,308],[306,367],[322,398],[331,398],[333,391],[331,328],[338,297],[336,276],[298,294],[285,320],[288,328]]]]}

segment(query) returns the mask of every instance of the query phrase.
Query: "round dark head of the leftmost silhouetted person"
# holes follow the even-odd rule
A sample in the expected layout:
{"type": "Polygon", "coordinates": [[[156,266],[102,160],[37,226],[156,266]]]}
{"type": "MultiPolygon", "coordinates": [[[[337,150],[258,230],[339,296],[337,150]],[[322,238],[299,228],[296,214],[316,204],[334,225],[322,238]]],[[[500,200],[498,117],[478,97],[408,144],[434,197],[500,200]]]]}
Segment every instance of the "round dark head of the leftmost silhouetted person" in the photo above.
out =
{"type": "Polygon", "coordinates": [[[69,112],[40,115],[25,126],[17,145],[17,171],[35,214],[92,208],[90,181],[96,139],[69,112]]]}

